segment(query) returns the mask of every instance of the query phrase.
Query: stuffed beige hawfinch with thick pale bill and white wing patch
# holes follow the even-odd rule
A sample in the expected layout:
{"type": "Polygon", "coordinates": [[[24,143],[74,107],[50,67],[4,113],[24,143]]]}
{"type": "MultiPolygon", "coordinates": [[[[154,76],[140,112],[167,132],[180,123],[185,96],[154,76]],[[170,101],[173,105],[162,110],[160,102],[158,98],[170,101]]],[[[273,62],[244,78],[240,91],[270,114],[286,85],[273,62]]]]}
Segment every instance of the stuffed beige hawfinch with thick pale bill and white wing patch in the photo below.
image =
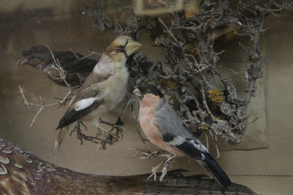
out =
{"type": "Polygon", "coordinates": [[[100,127],[100,117],[115,108],[125,97],[130,71],[126,61],[141,46],[130,37],[120,36],[105,49],[100,61],[73,96],[69,108],[59,122],[56,130],[61,130],[55,143],[56,150],[73,122],[91,121],[94,127],[110,134],[100,127]]]}

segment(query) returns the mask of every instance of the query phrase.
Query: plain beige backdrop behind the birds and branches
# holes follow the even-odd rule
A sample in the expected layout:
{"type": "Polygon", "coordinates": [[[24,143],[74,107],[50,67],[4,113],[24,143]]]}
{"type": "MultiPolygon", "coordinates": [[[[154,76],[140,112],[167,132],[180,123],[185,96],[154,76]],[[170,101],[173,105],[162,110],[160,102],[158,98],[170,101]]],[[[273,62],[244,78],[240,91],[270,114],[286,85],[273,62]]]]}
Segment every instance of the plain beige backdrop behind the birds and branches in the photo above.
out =
{"type": "MultiPolygon", "coordinates": [[[[131,1],[127,2],[131,4],[131,1]]],[[[113,146],[108,146],[105,151],[97,151],[97,146],[91,142],[84,142],[81,146],[76,134],[73,134],[73,137],[67,136],[60,150],[57,153],[54,151],[58,133],[55,132],[55,128],[66,107],[46,108],[38,116],[33,127],[29,128],[38,108],[27,108],[23,104],[18,85],[24,88],[28,101],[34,103],[38,103],[39,96],[45,96],[46,103],[54,103],[53,97],[63,97],[66,88],[51,82],[39,70],[28,66],[16,68],[16,61],[22,51],[33,45],[48,44],[53,50],[69,51],[69,48],[72,48],[86,55],[88,47],[102,52],[115,38],[112,32],[101,33],[95,29],[88,17],[76,10],[75,5],[80,5],[80,1],[68,0],[62,4],[40,0],[1,1],[0,137],[46,161],[79,172],[104,175],[150,172],[151,168],[163,159],[144,161],[139,159],[139,156],[132,158],[134,152],[127,151],[127,148],[146,149],[150,145],[149,142],[143,144],[140,141],[132,123],[130,110],[127,110],[124,118],[124,139],[113,146]]],[[[113,7],[110,5],[109,9],[111,6],[113,7]]],[[[221,151],[218,159],[233,182],[245,184],[259,194],[292,194],[293,191],[292,19],[292,13],[287,13],[283,18],[267,19],[265,26],[269,29],[261,39],[263,52],[269,54],[269,64],[265,66],[264,78],[259,82],[260,95],[256,100],[252,98],[259,104],[253,104],[255,106],[252,106],[251,110],[261,112],[257,114],[260,116],[257,122],[262,125],[254,124],[255,128],[252,128],[253,125],[249,128],[251,131],[258,128],[255,132],[260,132],[263,140],[260,146],[251,144],[255,148],[265,149],[221,151]],[[264,135],[267,139],[263,139],[264,135]]],[[[163,60],[164,50],[151,48],[150,45],[154,43],[148,36],[142,35],[140,42],[144,48],[140,51],[153,61],[163,60]]],[[[226,52],[222,55],[221,61],[222,70],[233,69],[234,66],[236,68],[248,62],[237,44],[238,41],[231,42],[228,45],[230,49],[225,48],[226,52]]],[[[93,58],[98,59],[98,56],[93,58]]],[[[102,119],[115,122],[125,103],[126,100],[123,100],[115,110],[104,115],[102,119]]],[[[94,135],[94,128],[90,127],[87,133],[94,135]]],[[[253,139],[253,136],[249,139],[253,139]]],[[[244,148],[241,144],[237,146],[237,149],[241,148],[244,148]]],[[[193,174],[207,174],[194,161],[189,163],[188,158],[177,158],[176,162],[174,168],[189,169],[193,174]]]]}

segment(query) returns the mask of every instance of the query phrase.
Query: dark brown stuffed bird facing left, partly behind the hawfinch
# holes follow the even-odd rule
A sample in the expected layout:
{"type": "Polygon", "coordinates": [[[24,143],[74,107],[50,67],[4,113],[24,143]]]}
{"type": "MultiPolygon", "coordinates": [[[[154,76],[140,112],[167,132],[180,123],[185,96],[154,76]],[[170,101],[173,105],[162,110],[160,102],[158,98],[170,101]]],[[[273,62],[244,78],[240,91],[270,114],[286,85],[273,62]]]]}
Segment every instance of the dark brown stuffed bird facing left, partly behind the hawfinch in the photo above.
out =
{"type": "MultiPolygon", "coordinates": [[[[52,51],[52,53],[54,58],[59,60],[61,67],[66,70],[65,80],[71,84],[71,86],[80,85],[81,79],[79,76],[83,78],[88,77],[93,67],[98,63],[98,61],[88,58],[77,60],[73,52],[52,51]]],[[[76,55],[78,58],[84,57],[79,53],[76,53],[76,55]]],[[[32,46],[23,51],[23,55],[18,58],[16,66],[28,64],[33,68],[41,70],[55,83],[66,86],[63,80],[58,79],[60,78],[59,72],[51,67],[52,62],[52,54],[47,47],[32,46]]]]}

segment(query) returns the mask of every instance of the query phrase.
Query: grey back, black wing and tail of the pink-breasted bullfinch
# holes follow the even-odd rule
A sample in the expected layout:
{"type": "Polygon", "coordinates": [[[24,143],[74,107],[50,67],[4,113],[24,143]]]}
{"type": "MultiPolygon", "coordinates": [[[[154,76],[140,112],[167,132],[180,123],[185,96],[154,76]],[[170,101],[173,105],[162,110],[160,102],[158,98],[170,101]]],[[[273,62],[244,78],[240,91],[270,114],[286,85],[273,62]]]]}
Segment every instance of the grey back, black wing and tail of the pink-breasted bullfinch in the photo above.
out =
{"type": "Polygon", "coordinates": [[[155,112],[155,117],[163,141],[199,162],[211,173],[221,191],[224,192],[231,184],[231,180],[206,147],[193,137],[173,108],[165,103],[159,111],[155,112]]]}

